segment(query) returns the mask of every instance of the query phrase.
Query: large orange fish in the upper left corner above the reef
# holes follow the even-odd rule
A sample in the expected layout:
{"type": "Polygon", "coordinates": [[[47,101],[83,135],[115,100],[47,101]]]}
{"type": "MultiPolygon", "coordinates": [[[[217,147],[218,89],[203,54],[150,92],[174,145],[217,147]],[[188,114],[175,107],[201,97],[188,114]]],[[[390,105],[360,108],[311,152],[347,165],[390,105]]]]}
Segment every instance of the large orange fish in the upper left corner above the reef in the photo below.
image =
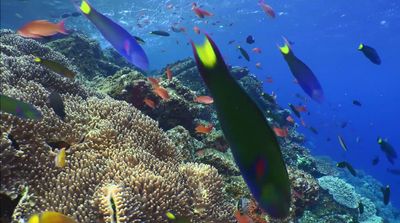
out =
{"type": "Polygon", "coordinates": [[[47,20],[34,20],[21,27],[17,33],[28,38],[42,38],[53,36],[57,33],[68,34],[65,31],[64,20],[59,23],[51,23],[47,20]]]}

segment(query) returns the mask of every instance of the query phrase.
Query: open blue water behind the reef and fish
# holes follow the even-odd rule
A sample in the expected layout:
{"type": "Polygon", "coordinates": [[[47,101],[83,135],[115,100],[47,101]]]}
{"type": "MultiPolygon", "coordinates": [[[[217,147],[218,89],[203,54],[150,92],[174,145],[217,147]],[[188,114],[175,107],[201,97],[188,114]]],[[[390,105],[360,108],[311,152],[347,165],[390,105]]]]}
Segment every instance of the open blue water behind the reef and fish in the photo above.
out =
{"type": "MultiPolygon", "coordinates": [[[[192,56],[187,42],[191,38],[202,41],[203,37],[192,31],[194,25],[200,27],[213,36],[227,63],[247,66],[261,80],[272,76],[274,82],[266,83],[264,89],[268,93],[274,91],[282,107],[301,102],[296,93],[306,97],[293,83],[293,76],[276,47],[283,43],[281,36],[286,36],[294,42],[294,53],[314,71],[325,91],[325,102],[320,105],[308,100],[310,115],[303,114],[306,124],[319,134],[299,127],[312,145],[313,154],[347,160],[383,184],[391,185],[391,202],[400,207],[400,176],[386,172],[387,168],[400,168],[400,160],[391,165],[376,142],[378,136],[387,138],[400,155],[400,1],[270,0],[268,3],[277,14],[271,19],[256,0],[208,0],[200,5],[214,16],[203,20],[190,10],[192,1],[92,0],[91,3],[133,35],[145,39],[144,49],[151,69],[192,56]],[[168,4],[173,5],[171,10],[167,9],[168,4]],[[170,31],[170,37],[148,34],[152,30],[169,30],[175,22],[178,27],[185,27],[186,33],[170,31]],[[139,28],[137,23],[144,25],[139,28]],[[256,41],[252,45],[245,42],[250,34],[256,41]],[[229,45],[230,40],[236,42],[229,45]],[[382,58],[380,66],[357,50],[361,42],[378,51],[382,58]],[[250,62],[238,59],[237,45],[249,52],[250,62]],[[254,47],[261,48],[262,53],[251,52],[254,47]],[[257,62],[262,69],[255,67],[257,62]],[[362,107],[352,105],[353,99],[361,101],[362,107]],[[345,121],[348,126],[341,128],[345,121]],[[346,141],[347,152],[340,147],[337,135],[346,141]],[[326,140],[328,137],[330,142],[326,140]],[[373,167],[371,160],[376,155],[380,163],[373,167]]],[[[16,30],[33,19],[59,21],[56,17],[74,11],[69,1],[2,0],[1,28],[16,30]]],[[[66,26],[98,39],[104,47],[109,46],[83,16],[67,19],[66,26]]]]}

